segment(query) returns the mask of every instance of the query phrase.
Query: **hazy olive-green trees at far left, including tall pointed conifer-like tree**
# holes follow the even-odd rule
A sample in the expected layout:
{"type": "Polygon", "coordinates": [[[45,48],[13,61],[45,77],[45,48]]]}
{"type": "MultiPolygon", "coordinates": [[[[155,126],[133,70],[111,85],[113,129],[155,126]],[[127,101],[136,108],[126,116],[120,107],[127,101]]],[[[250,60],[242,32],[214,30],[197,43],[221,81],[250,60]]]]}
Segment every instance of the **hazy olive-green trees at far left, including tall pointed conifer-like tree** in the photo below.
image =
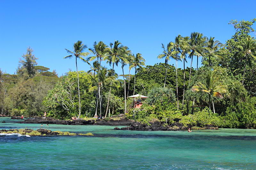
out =
{"type": "Polygon", "coordinates": [[[55,71],[36,66],[33,49],[27,54],[17,69],[17,74],[2,73],[0,81],[0,114],[2,115],[43,115],[47,108],[42,104],[48,90],[59,80],[55,71]]]}

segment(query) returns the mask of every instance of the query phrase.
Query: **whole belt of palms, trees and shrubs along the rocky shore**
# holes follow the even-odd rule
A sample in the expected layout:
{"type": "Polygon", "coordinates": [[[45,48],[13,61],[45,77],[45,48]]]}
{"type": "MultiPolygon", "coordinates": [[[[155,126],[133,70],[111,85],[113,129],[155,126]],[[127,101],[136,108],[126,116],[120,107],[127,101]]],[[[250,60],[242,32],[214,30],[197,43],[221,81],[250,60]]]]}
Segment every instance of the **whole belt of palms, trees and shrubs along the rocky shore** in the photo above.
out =
{"type": "Polygon", "coordinates": [[[60,57],[72,59],[76,71],[60,77],[37,65],[29,47],[15,74],[0,70],[0,114],[37,116],[19,123],[128,126],[122,130],[255,129],[255,21],[231,20],[235,33],[225,43],[198,32],[177,35],[156,47],[163,50],[156,61],[164,63],[155,65],[146,65],[148,56],[133,54],[120,41],[94,42],[92,48],[77,41],[60,57]],[[78,71],[82,64],[90,69],[78,71]],[[148,98],[128,98],[134,94],[148,98]],[[137,101],[140,108],[134,108],[137,101]],[[38,118],[44,112],[47,118],[38,118]],[[96,116],[104,119],[88,120],[96,116]]]}

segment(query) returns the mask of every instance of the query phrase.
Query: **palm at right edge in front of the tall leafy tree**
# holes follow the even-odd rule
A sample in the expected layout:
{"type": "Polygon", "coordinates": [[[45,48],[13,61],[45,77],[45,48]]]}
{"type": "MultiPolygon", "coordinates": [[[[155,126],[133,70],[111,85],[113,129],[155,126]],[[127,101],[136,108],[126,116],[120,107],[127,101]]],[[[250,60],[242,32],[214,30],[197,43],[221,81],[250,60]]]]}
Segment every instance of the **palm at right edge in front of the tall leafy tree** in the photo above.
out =
{"type": "MultiPolygon", "coordinates": [[[[238,56],[245,57],[245,63],[244,63],[244,73],[245,73],[247,60],[249,61],[249,64],[250,64],[251,58],[256,59],[256,57],[254,56],[256,54],[256,40],[252,39],[252,37],[247,37],[245,42],[242,44],[239,44],[237,48],[240,49],[238,56]]],[[[243,73],[243,81],[242,81],[243,85],[244,85],[244,73],[243,73]]]]}

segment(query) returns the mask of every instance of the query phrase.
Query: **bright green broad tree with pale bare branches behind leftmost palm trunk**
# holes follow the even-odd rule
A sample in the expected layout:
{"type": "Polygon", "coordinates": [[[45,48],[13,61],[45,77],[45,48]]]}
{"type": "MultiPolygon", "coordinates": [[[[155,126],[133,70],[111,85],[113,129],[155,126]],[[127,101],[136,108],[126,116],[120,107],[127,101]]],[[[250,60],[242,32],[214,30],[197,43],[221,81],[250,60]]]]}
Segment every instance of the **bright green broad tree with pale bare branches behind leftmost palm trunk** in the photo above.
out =
{"type": "MultiPolygon", "coordinates": [[[[91,113],[95,108],[95,98],[89,92],[92,79],[89,74],[79,71],[81,92],[81,112],[91,113]]],[[[44,98],[43,104],[48,108],[48,116],[65,118],[75,117],[78,114],[78,83],[76,72],[68,72],[57,82],[44,98]]]]}

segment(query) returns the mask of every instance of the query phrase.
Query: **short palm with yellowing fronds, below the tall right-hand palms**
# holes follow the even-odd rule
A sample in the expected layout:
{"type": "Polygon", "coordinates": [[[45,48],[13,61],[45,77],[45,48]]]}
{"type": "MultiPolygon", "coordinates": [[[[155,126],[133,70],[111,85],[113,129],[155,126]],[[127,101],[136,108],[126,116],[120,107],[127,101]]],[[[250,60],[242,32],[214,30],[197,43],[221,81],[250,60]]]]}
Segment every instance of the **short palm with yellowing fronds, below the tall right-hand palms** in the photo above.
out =
{"type": "MultiPolygon", "coordinates": [[[[220,77],[210,70],[205,79],[205,83],[198,82],[198,85],[192,87],[193,92],[206,92],[208,93],[208,107],[211,109],[211,96],[222,99],[223,93],[226,93],[226,86],[220,84],[220,77]]],[[[215,113],[214,103],[212,100],[213,111],[215,113]]]]}

